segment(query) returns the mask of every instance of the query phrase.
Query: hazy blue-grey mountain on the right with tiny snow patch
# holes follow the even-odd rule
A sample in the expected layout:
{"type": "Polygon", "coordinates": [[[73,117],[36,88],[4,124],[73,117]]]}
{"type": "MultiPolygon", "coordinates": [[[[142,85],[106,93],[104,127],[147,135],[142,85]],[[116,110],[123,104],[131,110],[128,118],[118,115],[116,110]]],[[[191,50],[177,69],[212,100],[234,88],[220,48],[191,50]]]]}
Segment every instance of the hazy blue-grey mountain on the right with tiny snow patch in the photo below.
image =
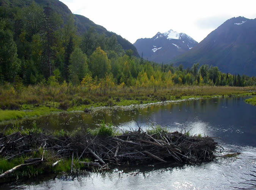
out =
{"type": "Polygon", "coordinates": [[[233,17],[196,47],[170,61],[185,68],[194,63],[218,66],[221,72],[256,75],[256,19],[233,17]]]}

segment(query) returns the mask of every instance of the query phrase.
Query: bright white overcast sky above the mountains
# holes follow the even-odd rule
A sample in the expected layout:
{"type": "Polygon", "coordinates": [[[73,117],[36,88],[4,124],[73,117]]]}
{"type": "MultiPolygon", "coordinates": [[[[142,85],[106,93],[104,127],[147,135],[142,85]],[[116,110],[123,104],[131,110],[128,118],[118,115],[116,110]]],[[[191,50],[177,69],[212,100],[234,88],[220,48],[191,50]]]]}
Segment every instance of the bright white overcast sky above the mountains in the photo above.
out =
{"type": "Polygon", "coordinates": [[[256,0],[60,0],[131,43],[173,29],[202,41],[232,17],[256,18],[256,0]]]}

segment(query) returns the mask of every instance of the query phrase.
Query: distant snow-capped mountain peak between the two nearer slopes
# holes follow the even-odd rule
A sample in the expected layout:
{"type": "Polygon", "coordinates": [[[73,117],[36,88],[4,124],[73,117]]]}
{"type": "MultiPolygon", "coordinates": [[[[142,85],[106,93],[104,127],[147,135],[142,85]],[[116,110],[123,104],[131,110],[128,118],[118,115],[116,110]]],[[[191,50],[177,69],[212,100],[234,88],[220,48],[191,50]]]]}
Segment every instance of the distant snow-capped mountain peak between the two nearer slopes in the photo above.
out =
{"type": "Polygon", "coordinates": [[[169,30],[165,33],[158,32],[152,38],[141,38],[133,44],[143,58],[157,63],[167,63],[177,55],[192,49],[198,44],[185,33],[169,30]]]}

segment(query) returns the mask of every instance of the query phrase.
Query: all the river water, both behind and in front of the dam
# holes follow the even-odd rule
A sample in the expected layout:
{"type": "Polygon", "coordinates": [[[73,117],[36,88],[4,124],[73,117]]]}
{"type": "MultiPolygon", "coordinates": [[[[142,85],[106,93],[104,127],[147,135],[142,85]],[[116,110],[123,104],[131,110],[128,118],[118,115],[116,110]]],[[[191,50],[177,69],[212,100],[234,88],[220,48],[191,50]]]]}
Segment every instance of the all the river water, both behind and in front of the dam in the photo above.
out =
{"type": "MultiPolygon", "coordinates": [[[[218,158],[201,165],[145,165],[116,168],[78,177],[53,177],[13,183],[13,189],[237,189],[256,188],[256,107],[245,104],[247,97],[211,98],[147,106],[101,108],[90,114],[64,113],[42,117],[36,122],[46,129],[72,130],[95,127],[102,119],[121,130],[159,124],[170,130],[186,129],[208,135],[226,151],[240,151],[238,159],[218,158]],[[36,181],[36,182],[35,182],[36,181]]],[[[31,126],[32,120],[22,122],[31,126]]],[[[5,127],[5,126],[2,126],[5,127]]]]}

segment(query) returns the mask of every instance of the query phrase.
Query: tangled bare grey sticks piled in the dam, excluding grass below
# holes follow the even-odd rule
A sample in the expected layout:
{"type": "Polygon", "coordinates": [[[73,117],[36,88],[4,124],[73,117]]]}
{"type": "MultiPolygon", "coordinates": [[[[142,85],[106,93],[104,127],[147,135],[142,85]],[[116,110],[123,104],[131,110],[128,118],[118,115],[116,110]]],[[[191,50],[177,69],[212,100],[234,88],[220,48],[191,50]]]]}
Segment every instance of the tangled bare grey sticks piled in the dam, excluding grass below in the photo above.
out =
{"type": "MultiPolygon", "coordinates": [[[[155,161],[198,163],[215,157],[217,143],[210,137],[190,137],[180,132],[149,135],[141,129],[114,137],[93,136],[90,133],[60,137],[50,133],[0,134],[0,156],[7,160],[39,151],[40,148],[52,151],[57,160],[90,158],[94,160],[91,165],[101,166],[155,161]]],[[[41,160],[47,160],[43,156],[41,160]]]]}

